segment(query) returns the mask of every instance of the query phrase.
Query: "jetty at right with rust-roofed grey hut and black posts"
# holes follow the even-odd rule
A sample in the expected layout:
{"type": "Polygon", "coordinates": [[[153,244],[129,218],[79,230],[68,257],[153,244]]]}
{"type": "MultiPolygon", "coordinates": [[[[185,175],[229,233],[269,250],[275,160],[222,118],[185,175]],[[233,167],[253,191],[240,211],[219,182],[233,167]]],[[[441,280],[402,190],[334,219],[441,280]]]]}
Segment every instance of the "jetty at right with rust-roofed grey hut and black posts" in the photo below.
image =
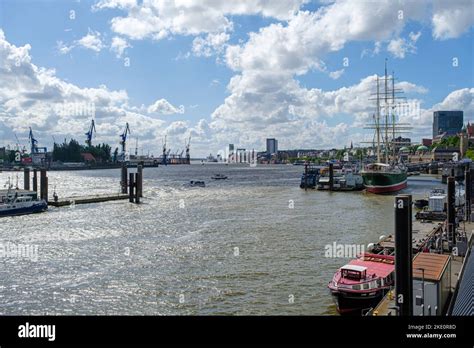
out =
{"type": "Polygon", "coordinates": [[[456,177],[447,178],[447,218],[441,223],[413,223],[411,196],[395,198],[395,237],[389,236],[377,244],[381,252],[395,254],[395,287],[365,315],[474,314],[474,294],[466,285],[474,276],[474,170],[466,169],[464,177],[465,205],[458,208],[456,177]]]}

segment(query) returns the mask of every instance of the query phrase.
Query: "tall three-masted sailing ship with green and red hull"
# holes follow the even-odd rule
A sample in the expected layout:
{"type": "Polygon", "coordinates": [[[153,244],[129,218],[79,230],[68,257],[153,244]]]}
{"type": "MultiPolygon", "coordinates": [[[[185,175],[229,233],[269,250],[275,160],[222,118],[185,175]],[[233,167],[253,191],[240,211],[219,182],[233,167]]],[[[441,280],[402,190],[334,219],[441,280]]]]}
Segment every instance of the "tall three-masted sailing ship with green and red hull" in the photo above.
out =
{"type": "MultiPolygon", "coordinates": [[[[397,109],[400,103],[396,94],[401,90],[395,89],[395,77],[387,75],[387,63],[385,62],[385,76],[377,76],[376,113],[374,124],[366,128],[375,130],[377,142],[377,162],[367,165],[361,175],[364,186],[368,192],[390,193],[397,192],[407,187],[407,168],[399,160],[395,135],[401,130],[409,129],[407,125],[397,123],[397,109]],[[381,80],[383,87],[381,88],[381,80]],[[389,84],[391,83],[391,87],[389,84]],[[391,139],[390,139],[391,137],[391,139]],[[383,151],[383,154],[382,154],[383,151]]],[[[374,139],[374,142],[375,142],[374,139]]],[[[400,146],[398,146],[400,147],[400,146]]]]}

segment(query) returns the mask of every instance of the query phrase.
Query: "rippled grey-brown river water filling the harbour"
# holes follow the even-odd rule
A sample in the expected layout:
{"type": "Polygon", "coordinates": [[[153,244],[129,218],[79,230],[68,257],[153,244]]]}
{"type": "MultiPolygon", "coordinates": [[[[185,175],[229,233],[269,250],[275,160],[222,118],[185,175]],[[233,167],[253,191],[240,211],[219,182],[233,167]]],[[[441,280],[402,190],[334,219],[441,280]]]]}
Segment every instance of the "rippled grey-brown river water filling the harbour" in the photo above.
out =
{"type": "MultiPolygon", "coordinates": [[[[144,170],[143,204],[54,208],[0,219],[0,315],[333,315],[327,289],[349,259],[327,245],[393,229],[393,196],[305,192],[303,167],[144,170]],[[228,180],[212,181],[214,173],[228,180]],[[206,181],[190,188],[189,180],[206,181]],[[36,249],[35,249],[36,248],[36,249]]],[[[0,173],[0,182],[16,173],[0,173]]],[[[50,194],[118,193],[120,171],[49,172],[50,194]]],[[[22,174],[19,174],[22,183],[22,174]]],[[[415,177],[422,195],[434,179],[415,177]]]]}

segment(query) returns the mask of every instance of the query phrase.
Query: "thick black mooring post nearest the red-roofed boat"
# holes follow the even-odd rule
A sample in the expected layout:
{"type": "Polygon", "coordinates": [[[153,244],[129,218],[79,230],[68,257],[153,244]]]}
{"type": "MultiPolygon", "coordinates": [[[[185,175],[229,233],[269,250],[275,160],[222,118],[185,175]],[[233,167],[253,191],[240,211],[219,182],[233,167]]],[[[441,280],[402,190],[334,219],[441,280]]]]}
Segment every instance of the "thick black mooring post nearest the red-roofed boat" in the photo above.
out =
{"type": "Polygon", "coordinates": [[[400,316],[413,315],[411,195],[395,197],[395,299],[400,316]]]}

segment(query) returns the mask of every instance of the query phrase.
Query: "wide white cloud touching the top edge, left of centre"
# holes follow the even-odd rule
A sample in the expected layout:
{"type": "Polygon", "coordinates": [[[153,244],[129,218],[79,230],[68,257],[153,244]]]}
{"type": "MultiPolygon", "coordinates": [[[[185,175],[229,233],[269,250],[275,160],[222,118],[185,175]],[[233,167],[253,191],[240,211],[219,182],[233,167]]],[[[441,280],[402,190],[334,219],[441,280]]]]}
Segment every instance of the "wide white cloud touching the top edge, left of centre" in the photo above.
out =
{"type": "Polygon", "coordinates": [[[232,30],[233,15],[261,15],[279,20],[288,19],[308,0],[144,0],[140,5],[119,5],[117,1],[104,1],[100,8],[126,8],[126,17],[115,17],[112,30],[139,40],[161,40],[169,35],[199,35],[232,30]]]}

